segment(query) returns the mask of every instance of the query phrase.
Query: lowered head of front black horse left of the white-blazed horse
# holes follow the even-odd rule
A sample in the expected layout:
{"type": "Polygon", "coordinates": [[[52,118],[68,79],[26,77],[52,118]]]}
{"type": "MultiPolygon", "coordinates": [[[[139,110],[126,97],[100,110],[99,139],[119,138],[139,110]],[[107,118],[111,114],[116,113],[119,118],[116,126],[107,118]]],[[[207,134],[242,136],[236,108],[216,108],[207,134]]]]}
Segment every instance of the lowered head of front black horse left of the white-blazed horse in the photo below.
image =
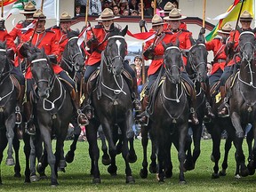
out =
{"type": "Polygon", "coordinates": [[[28,62],[35,80],[37,95],[39,98],[47,99],[52,89],[54,73],[44,49],[29,47],[28,62]]]}

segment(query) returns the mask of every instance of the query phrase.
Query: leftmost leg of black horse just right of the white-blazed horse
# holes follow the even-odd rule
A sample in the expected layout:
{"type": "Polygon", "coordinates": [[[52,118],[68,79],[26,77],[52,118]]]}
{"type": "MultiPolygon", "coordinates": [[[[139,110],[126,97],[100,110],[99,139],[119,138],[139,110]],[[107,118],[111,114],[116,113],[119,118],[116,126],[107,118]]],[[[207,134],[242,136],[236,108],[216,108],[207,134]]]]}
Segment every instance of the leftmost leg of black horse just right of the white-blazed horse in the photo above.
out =
{"type": "MultiPolygon", "coordinates": [[[[140,169],[140,177],[145,179],[148,177],[148,155],[147,155],[147,148],[148,148],[148,126],[141,125],[141,144],[143,148],[143,161],[142,161],[142,169],[140,169]]],[[[153,142],[151,140],[151,142],[153,142]]]]}

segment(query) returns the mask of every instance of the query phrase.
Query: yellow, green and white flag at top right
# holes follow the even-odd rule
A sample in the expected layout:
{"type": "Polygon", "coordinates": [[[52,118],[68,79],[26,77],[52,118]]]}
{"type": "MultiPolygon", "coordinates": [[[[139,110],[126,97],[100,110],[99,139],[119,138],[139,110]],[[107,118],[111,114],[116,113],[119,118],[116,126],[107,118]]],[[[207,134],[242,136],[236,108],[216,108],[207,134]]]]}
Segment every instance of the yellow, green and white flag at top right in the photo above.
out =
{"type": "MultiPolygon", "coordinates": [[[[211,41],[214,36],[217,35],[218,30],[222,28],[227,22],[237,20],[241,5],[243,0],[235,0],[233,4],[228,8],[227,12],[220,14],[215,17],[213,20],[219,20],[217,25],[212,29],[212,31],[205,36],[206,41],[211,41]]],[[[252,2],[253,0],[244,0],[242,12],[247,10],[253,15],[252,11],[252,2]]]]}

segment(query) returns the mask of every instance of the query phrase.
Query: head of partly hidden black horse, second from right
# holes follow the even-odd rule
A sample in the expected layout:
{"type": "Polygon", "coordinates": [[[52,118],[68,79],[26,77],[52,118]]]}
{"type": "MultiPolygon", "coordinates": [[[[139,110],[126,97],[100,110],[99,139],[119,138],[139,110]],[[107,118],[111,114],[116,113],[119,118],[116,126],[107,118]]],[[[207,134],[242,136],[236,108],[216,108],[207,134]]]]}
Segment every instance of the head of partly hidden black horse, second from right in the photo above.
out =
{"type": "Polygon", "coordinates": [[[187,68],[190,68],[190,75],[196,75],[196,81],[205,82],[207,78],[207,55],[204,41],[196,41],[188,52],[187,68]]]}

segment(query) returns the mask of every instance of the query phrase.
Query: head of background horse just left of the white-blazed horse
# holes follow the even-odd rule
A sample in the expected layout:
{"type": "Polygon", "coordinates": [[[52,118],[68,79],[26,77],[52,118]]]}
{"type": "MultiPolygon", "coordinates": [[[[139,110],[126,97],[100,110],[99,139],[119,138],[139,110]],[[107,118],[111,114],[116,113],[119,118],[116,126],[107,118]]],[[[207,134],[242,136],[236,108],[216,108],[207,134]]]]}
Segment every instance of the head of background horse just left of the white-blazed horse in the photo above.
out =
{"type": "Polygon", "coordinates": [[[71,71],[73,68],[76,71],[82,71],[84,68],[84,57],[77,44],[79,32],[78,31],[68,31],[68,44],[62,55],[62,62],[65,63],[66,67],[71,71]]]}

